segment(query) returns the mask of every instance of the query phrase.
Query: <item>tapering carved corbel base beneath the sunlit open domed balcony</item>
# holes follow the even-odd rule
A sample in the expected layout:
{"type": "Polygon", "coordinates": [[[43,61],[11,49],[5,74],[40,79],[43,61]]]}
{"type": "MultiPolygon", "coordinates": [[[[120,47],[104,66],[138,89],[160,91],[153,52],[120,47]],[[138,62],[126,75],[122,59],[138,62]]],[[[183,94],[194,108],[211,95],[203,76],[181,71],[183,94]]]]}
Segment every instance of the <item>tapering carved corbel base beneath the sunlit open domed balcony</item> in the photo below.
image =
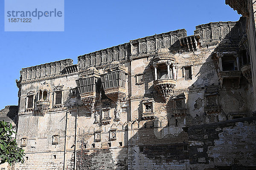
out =
{"type": "Polygon", "coordinates": [[[167,102],[173,94],[174,87],[176,86],[175,79],[160,79],[154,81],[154,88],[160,93],[160,95],[167,102]]]}

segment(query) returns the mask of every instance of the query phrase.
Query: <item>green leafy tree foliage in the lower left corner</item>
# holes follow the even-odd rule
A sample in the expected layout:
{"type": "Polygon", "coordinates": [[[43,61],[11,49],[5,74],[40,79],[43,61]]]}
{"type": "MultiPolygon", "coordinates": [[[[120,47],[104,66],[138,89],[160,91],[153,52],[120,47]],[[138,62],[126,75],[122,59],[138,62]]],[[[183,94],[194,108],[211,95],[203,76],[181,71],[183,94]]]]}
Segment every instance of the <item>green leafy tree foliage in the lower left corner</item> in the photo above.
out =
{"type": "Polygon", "coordinates": [[[0,121],[0,164],[8,162],[24,162],[24,150],[18,147],[16,139],[12,139],[14,127],[6,121],[0,121]]]}

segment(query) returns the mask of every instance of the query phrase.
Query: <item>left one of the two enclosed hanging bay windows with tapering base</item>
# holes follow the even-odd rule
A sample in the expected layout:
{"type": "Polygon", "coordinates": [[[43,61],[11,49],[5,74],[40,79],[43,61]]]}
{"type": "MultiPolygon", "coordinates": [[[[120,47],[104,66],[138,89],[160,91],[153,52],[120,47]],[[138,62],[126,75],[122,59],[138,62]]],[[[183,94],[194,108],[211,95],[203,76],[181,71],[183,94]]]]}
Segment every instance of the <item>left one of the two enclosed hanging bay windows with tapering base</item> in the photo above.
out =
{"type": "Polygon", "coordinates": [[[76,84],[81,100],[87,109],[93,113],[100,95],[101,81],[99,72],[94,67],[84,70],[84,72],[81,72],[79,80],[76,80],[76,84]]]}

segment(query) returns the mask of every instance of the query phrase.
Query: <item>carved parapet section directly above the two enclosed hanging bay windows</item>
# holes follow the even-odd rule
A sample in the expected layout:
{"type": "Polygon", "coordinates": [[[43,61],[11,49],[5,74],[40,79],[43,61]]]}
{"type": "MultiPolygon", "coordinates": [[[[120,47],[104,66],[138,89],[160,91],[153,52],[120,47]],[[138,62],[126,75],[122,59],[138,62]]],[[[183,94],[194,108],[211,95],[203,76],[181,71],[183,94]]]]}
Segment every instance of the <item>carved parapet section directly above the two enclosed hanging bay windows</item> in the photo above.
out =
{"type": "Polygon", "coordinates": [[[78,56],[78,65],[80,70],[94,66],[96,68],[102,65],[110,64],[112,61],[126,61],[129,56],[130,43],[124,43],[107,49],[78,56]]]}

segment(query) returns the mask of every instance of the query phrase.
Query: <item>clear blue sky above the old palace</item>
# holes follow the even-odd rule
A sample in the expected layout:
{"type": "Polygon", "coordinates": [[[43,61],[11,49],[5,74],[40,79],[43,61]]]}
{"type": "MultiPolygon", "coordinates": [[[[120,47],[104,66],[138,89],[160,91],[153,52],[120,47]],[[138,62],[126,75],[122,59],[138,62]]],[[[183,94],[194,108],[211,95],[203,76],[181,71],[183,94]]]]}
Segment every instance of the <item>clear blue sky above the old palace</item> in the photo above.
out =
{"type": "Polygon", "coordinates": [[[236,21],[225,0],[65,0],[64,32],[4,32],[0,1],[0,109],[17,105],[20,69],[77,56],[176,29],[236,21]]]}

